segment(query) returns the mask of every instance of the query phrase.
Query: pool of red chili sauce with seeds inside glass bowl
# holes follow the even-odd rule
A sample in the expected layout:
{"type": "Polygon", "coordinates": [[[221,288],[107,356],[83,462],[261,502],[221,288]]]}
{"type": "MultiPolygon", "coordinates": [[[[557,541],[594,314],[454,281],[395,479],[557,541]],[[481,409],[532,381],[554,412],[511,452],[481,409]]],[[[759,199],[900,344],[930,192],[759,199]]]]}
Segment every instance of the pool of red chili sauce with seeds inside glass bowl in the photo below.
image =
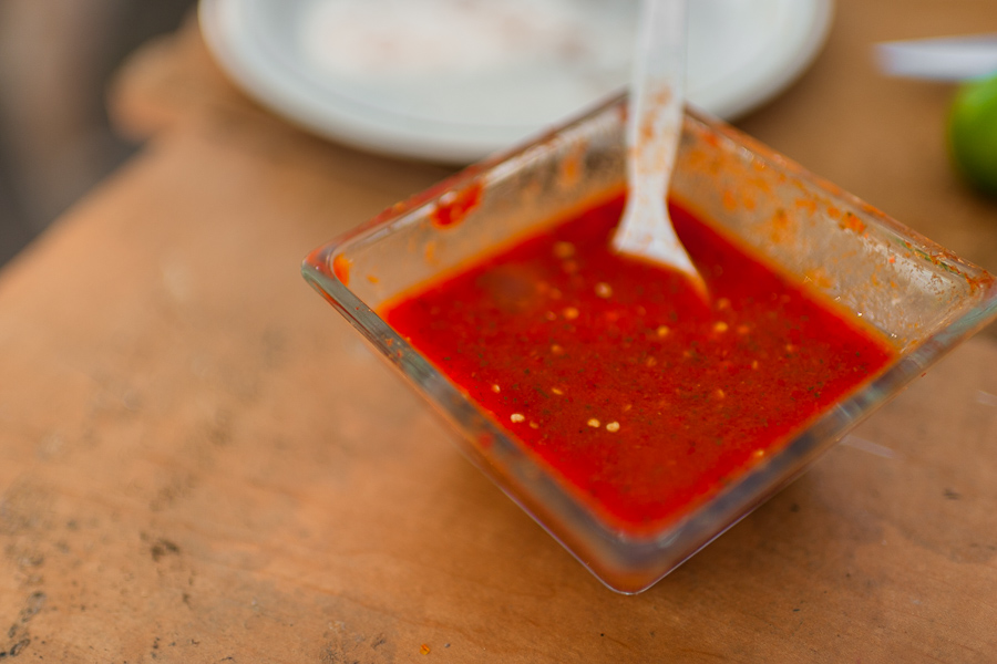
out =
{"type": "Polygon", "coordinates": [[[672,206],[703,303],[608,250],[621,206],[382,313],[584,500],[639,531],[716,494],[895,351],[672,206]]]}

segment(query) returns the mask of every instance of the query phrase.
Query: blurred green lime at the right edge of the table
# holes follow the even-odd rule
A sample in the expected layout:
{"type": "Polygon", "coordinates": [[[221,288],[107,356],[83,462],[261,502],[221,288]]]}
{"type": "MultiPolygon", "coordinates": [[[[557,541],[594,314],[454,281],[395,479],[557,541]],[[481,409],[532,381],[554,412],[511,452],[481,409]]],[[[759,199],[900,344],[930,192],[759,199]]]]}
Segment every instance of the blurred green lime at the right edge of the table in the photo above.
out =
{"type": "Polygon", "coordinates": [[[997,196],[997,76],[959,86],[948,116],[948,144],[966,179],[997,196]]]}

